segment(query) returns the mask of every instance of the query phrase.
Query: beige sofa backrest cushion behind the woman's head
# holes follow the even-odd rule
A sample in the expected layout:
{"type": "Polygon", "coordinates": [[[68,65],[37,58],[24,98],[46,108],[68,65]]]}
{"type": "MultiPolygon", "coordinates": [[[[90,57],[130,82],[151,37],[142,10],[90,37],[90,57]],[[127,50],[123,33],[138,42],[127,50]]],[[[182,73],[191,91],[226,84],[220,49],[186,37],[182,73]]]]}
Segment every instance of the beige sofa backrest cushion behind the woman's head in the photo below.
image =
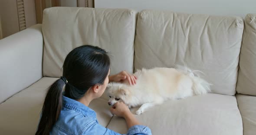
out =
{"type": "Polygon", "coordinates": [[[62,76],[66,55],[81,45],[110,51],[111,74],[133,72],[136,11],[52,7],[43,13],[43,75],[62,76]]]}

